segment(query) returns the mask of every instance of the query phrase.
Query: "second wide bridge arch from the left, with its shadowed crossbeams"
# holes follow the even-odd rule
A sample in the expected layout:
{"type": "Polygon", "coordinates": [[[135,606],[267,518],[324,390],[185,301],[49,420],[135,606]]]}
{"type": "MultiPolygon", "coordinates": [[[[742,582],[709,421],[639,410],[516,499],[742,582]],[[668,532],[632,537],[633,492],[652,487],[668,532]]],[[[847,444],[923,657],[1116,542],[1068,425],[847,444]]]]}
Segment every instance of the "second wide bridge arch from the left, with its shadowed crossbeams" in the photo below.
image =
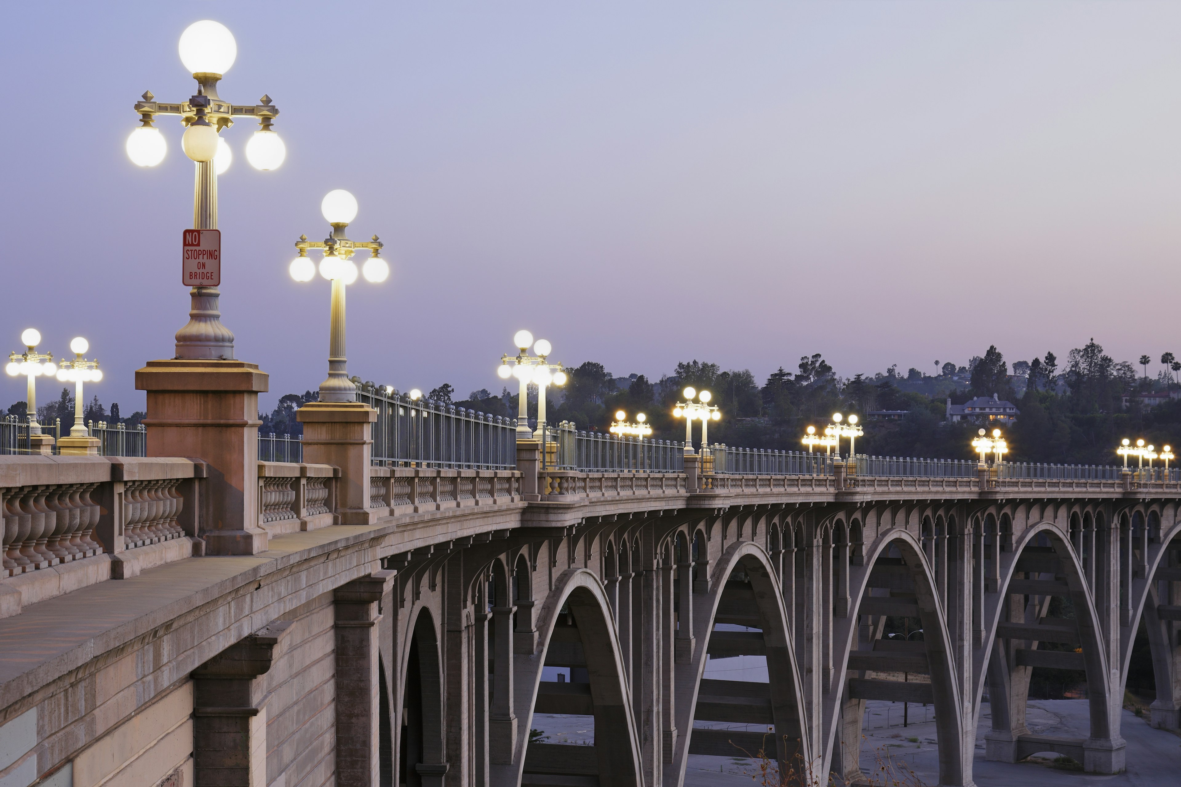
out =
{"type": "Polygon", "coordinates": [[[681,783],[690,754],[740,755],[731,740],[745,742],[743,749],[750,754],[764,746],[762,733],[718,730],[720,734],[715,734],[713,730],[693,727],[694,720],[735,721],[732,714],[738,708],[748,713],[755,709],[758,717],[752,717],[750,723],[775,728],[772,735],[765,736],[765,745],[768,756],[779,762],[781,772],[800,773],[811,763],[811,752],[800,669],[783,591],[771,557],[753,542],[731,544],[718,557],[710,575],[709,590],[694,592],[692,604],[694,647],[684,668],[678,664],[676,670],[678,701],[674,719],[678,735],[665,783],[681,783]],[[715,625],[725,619],[743,619],[750,628],[761,630],[715,631],[715,625]],[[764,655],[769,682],[706,682],[705,663],[711,654],[764,655]],[[716,686],[722,683],[729,686],[716,686]],[[718,693],[726,689],[739,694],[718,693]]]}

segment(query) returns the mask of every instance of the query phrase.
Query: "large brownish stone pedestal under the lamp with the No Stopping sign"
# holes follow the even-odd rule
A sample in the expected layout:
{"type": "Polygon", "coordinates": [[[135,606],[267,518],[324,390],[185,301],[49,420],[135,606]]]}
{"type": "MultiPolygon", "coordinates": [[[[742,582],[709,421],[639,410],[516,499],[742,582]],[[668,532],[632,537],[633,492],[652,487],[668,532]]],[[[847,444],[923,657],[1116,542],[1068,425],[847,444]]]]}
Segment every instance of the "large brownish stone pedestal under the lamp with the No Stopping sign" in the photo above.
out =
{"type": "Polygon", "coordinates": [[[202,459],[209,466],[201,536],[209,555],[256,555],[259,393],[267,373],[242,361],[149,361],[136,372],[148,392],[148,455],[202,459]]]}

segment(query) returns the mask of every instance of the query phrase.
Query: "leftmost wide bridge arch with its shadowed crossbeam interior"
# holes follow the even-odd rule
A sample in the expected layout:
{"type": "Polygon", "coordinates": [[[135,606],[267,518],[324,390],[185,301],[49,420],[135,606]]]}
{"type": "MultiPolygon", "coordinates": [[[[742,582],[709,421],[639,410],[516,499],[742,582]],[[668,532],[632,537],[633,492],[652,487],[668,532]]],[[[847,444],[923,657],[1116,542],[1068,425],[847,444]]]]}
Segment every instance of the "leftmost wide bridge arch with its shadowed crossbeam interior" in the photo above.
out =
{"type": "Polygon", "coordinates": [[[593,747],[567,746],[520,735],[509,769],[513,779],[508,783],[518,785],[523,774],[539,773],[595,775],[601,785],[639,787],[640,743],[627,671],[611,603],[600,579],[587,569],[563,571],[541,606],[537,624],[541,647],[529,656],[518,656],[515,663],[516,704],[527,709],[521,714],[522,729],[531,728],[534,713],[576,711],[594,716],[595,742],[593,747]],[[542,668],[547,665],[585,669],[588,686],[544,686],[542,668]],[[548,690],[556,687],[565,688],[548,690]]]}

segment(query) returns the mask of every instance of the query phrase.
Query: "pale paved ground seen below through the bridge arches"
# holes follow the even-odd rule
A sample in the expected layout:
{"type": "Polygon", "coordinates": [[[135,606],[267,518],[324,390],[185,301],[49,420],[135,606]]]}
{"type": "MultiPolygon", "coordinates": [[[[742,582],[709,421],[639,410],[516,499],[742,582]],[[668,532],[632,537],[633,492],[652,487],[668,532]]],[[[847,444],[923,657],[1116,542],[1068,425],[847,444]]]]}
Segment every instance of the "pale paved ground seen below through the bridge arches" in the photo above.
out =
{"type": "MultiPolygon", "coordinates": [[[[911,706],[911,723],[902,727],[901,704],[869,702],[866,716],[866,740],[861,749],[861,765],[870,770],[879,759],[887,756],[914,772],[913,780],[903,785],[938,785],[935,724],[929,708],[911,706]],[[889,726],[887,726],[887,723],[889,726]],[[908,739],[918,739],[911,741],[908,739]]],[[[988,706],[985,704],[977,735],[974,779],[979,787],[1071,787],[1097,785],[1103,787],[1155,787],[1181,783],[1181,737],[1153,729],[1143,719],[1130,711],[1123,714],[1123,737],[1128,742],[1128,769],[1114,776],[1084,774],[1052,767],[1053,755],[1033,761],[1010,765],[987,762],[984,759],[984,734],[990,726],[988,706]]],[[[1085,737],[1088,710],[1084,700],[1031,700],[1029,703],[1031,733],[1085,737]]],[[[726,724],[711,724],[725,727],[726,724]]],[[[533,727],[547,735],[549,743],[580,743],[594,741],[594,719],[590,716],[557,716],[537,714],[533,727]]],[[[732,727],[745,728],[733,724],[732,727]]],[[[758,762],[738,758],[690,756],[685,772],[685,787],[727,787],[730,785],[762,785],[758,762]]],[[[880,780],[877,783],[881,783],[880,780]]]]}

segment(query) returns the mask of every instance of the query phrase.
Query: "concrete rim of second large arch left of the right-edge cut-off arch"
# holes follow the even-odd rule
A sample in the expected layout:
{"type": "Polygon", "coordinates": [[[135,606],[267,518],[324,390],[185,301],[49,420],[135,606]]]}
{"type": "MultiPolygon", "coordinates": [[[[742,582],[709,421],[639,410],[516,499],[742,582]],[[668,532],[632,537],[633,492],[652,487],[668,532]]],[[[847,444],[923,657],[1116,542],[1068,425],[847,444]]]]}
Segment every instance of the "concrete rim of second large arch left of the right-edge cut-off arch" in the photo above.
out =
{"type": "MultiPolygon", "coordinates": [[[[938,520],[935,525],[938,526],[938,520]]],[[[849,652],[856,649],[859,634],[857,616],[861,614],[866,590],[870,586],[870,576],[875,564],[888,556],[888,550],[896,549],[901,555],[902,569],[909,575],[914,586],[918,617],[922,622],[926,656],[931,671],[932,701],[935,708],[935,734],[939,740],[939,783],[964,785],[971,781],[973,749],[965,743],[966,720],[960,710],[960,687],[955,680],[954,651],[947,631],[947,618],[944,605],[935,588],[935,572],[924,551],[924,544],[905,530],[890,530],[868,550],[864,565],[853,566],[849,576],[849,615],[834,619],[834,654],[841,654],[834,660],[833,689],[824,697],[826,732],[823,756],[820,773],[827,774],[833,761],[834,743],[837,737],[840,714],[837,708],[846,694],[844,686],[848,675],[849,652]]],[[[860,724],[857,726],[860,729],[860,724]]],[[[860,737],[860,736],[859,736],[860,737]]],[[[860,740],[850,741],[848,746],[857,746],[860,740]]]]}

